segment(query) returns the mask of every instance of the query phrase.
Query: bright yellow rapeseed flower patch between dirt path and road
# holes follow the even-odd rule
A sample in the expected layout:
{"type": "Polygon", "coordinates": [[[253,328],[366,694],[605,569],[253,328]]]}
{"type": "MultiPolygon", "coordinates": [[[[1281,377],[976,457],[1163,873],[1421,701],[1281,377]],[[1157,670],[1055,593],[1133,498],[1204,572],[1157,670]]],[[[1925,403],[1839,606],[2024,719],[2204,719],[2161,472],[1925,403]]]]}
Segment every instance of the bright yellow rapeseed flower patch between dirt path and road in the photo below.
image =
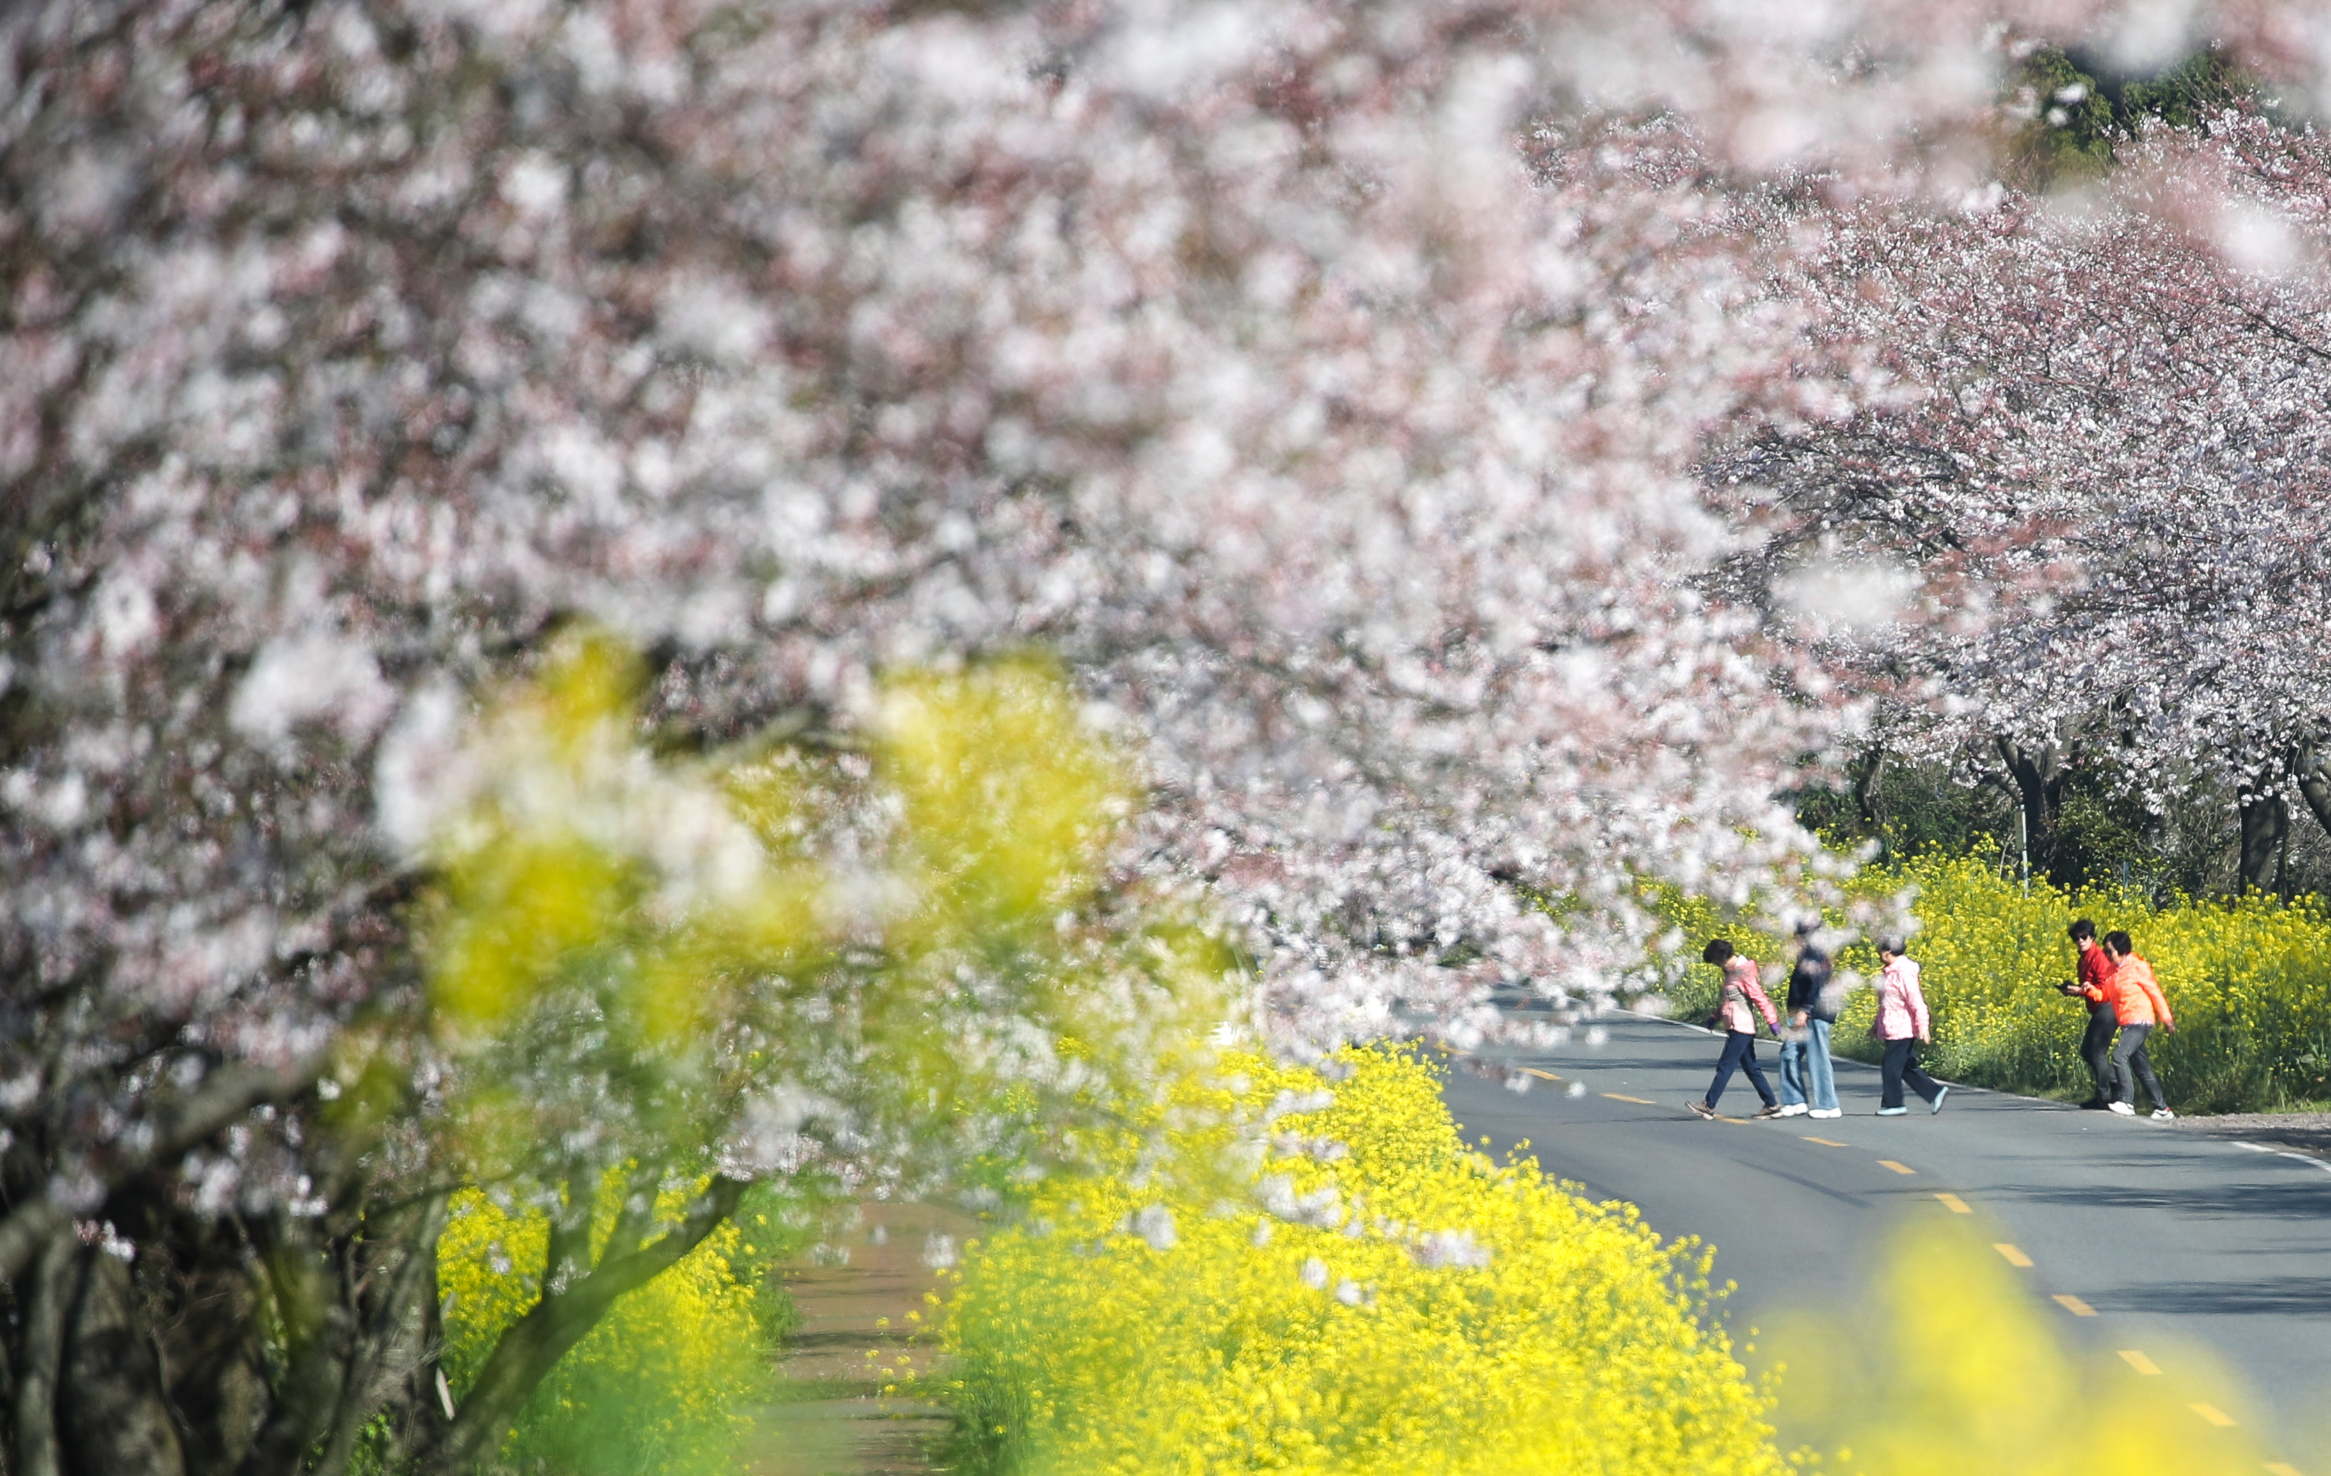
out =
{"type": "Polygon", "coordinates": [[[1310,1110],[1270,1124],[1291,1152],[1256,1180],[1303,1224],[1128,1136],[1107,1173],[1040,1187],[970,1250],[942,1397],[977,1469],[1783,1469],[1767,1401],[1699,1320],[1690,1243],[1469,1152],[1413,1054],[1338,1061],[1352,1075],[1329,1087],[1228,1059],[1168,1112],[1170,1164],[1203,1166],[1235,1119],[1308,1098],[1282,1098],[1310,1110]]]}

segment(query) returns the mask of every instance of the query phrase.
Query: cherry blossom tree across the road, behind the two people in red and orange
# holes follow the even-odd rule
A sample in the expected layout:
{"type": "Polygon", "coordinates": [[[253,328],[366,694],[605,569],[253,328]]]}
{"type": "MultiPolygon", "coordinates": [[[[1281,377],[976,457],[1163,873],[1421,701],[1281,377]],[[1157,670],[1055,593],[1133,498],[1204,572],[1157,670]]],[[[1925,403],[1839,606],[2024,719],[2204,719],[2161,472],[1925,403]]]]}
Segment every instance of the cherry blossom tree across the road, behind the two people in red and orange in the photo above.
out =
{"type": "Polygon", "coordinates": [[[2294,790],[2331,823],[2326,166],[2245,110],[2147,131],[2098,201],[1825,217],[1797,282],[1890,385],[1716,462],[1779,529],[1734,588],[1886,690],[1897,751],[2005,769],[2040,872],[2089,760],[2240,795],[2245,884],[2294,790]]]}

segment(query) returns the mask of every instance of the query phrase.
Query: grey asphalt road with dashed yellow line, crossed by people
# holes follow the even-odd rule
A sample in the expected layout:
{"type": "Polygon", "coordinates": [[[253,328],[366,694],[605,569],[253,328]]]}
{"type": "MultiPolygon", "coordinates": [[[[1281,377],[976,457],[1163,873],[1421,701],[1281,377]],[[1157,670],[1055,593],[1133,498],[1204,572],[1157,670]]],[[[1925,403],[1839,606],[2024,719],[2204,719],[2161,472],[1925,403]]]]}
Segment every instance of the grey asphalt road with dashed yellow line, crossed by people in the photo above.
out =
{"type": "MultiPolygon", "coordinates": [[[[1965,1213],[2068,1341],[2135,1352],[2128,1366],[2159,1369],[2163,1399],[2207,1399],[2331,1476],[2331,1164],[1974,1087],[1932,1117],[1916,1096],[1909,1117],[1876,1117],[1879,1073],[1851,1061],[1837,1063],[1839,1119],[1746,1122],[1758,1096],[1734,1075],[1718,1103],[1730,1122],[1704,1122],[1683,1103],[1709,1087],[1716,1035],[1604,1026],[1601,1047],[1483,1052],[1531,1089],[1452,1070],[1448,1103],[1494,1152],[1527,1140],[1545,1173],[1716,1245],[1734,1334],[1853,1296],[1900,1217],[1965,1213]],[[2210,1383],[2196,1348],[2247,1397],[2210,1383]]],[[[1769,1038],[1758,1059],[1779,1091],[1769,1038]]]]}

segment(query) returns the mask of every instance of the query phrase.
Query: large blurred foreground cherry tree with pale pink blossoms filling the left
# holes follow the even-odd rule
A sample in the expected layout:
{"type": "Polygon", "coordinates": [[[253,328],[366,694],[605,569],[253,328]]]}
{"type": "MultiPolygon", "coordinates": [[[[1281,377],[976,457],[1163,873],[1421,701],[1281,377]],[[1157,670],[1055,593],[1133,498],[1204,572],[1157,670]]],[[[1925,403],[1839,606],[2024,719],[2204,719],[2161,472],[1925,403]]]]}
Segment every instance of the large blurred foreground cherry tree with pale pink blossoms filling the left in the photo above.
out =
{"type": "MultiPolygon", "coordinates": [[[[641,741],[718,772],[867,748],[886,674],[1047,651],[1140,755],[1124,895],[1196,898],[1296,1052],[1415,1014],[1469,1040],[1497,979],[1592,993],[1634,877],[1741,893],[1802,856],[1772,795],[1830,695],[1692,583],[1732,546],[1711,429],[1855,389],[1762,291],[1753,173],[1974,187],[1995,21],[12,9],[19,1467],[294,1469],[441,1404],[478,1066],[415,928],[459,891],[492,695],[578,627],[646,653],[641,741]]],[[[2298,7],[2242,23],[2315,54],[2298,7]]],[[[869,793],[804,835],[848,858],[869,793]]],[[[732,832],[648,818],[683,856],[732,832]]],[[[825,1150],[879,1159],[897,1087],[867,1073],[825,1150]]],[[[781,1173],[734,1159],[753,1091],[688,1101],[702,1213],[606,1271],[685,1250],[723,1164],[781,1173]]]]}

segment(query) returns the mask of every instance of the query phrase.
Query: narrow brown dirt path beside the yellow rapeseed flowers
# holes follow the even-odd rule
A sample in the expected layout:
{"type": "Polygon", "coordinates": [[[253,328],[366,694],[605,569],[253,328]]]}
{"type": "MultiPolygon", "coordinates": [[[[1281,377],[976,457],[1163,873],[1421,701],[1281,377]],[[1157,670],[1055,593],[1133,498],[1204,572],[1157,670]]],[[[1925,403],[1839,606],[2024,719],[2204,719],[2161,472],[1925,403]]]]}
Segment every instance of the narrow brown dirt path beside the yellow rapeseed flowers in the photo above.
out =
{"type": "Polygon", "coordinates": [[[848,1236],[846,1264],[802,1261],[786,1289],[802,1315],[786,1341],[774,1404],[746,1448],[748,1476],[925,1476],[944,1471],[937,1443],[944,1408],[879,1399],[881,1366],[911,1357],[928,1369],[932,1348],[916,1338],[923,1294],[937,1285],[925,1264],[930,1236],[956,1243],[977,1233],[972,1217],[930,1206],[865,1206],[848,1236]],[[916,1338],[916,1341],[909,1341],[916,1338]],[[869,1362],[867,1352],[876,1357],[869,1362]]]}

